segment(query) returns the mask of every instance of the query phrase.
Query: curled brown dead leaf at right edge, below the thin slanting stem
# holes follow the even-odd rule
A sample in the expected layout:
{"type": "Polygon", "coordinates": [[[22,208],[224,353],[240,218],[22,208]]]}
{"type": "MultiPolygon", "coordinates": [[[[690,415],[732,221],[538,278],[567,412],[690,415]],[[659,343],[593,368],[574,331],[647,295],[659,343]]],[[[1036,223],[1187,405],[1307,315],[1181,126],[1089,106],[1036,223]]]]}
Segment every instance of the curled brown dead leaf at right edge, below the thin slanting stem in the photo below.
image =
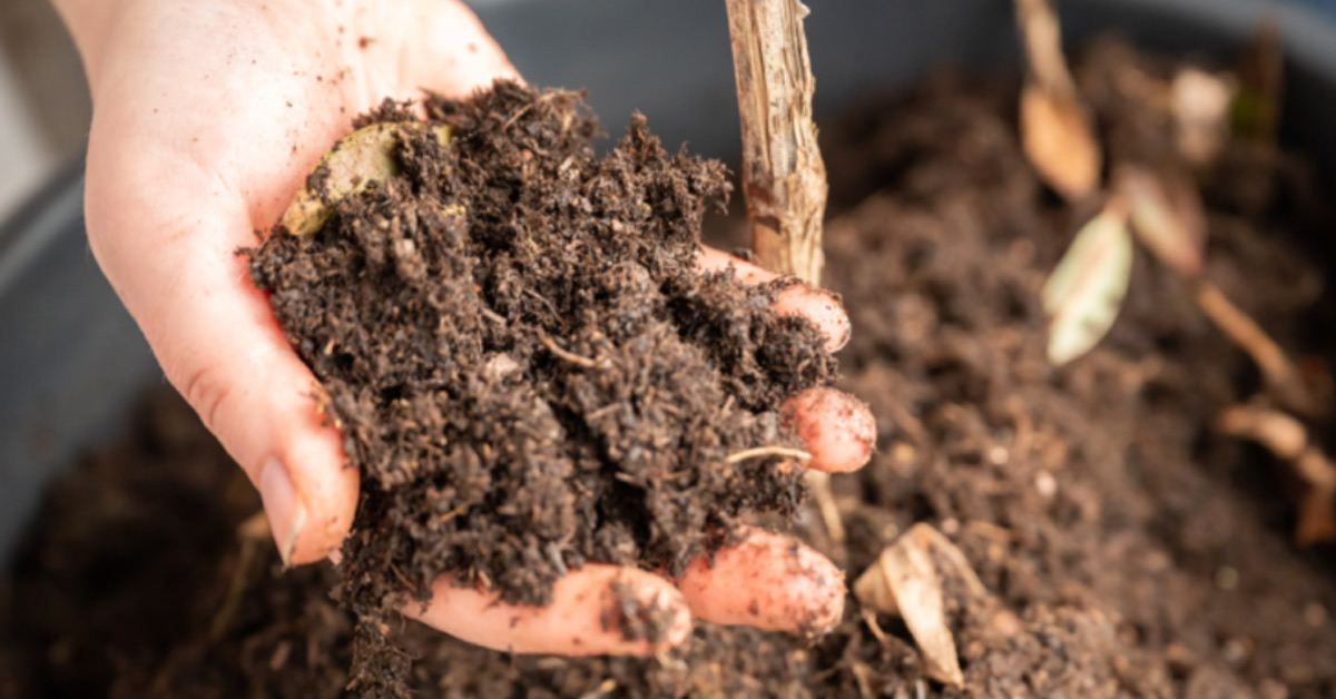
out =
{"type": "Polygon", "coordinates": [[[1336,464],[1315,446],[1293,417],[1249,404],[1224,409],[1216,426],[1225,434],[1256,441],[1288,461],[1308,488],[1300,501],[1295,539],[1300,545],[1336,540],[1336,464]]]}

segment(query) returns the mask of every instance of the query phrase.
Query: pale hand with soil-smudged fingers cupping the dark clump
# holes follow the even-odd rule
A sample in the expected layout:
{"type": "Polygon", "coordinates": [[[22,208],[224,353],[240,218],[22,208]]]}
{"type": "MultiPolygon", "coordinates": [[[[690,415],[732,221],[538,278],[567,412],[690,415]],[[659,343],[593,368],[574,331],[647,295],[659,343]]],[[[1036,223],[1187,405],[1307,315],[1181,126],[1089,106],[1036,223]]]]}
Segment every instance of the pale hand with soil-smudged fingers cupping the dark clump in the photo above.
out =
{"type": "MultiPolygon", "coordinates": [[[[259,488],[289,563],[330,555],[347,535],[358,474],[339,434],[322,425],[310,370],[293,353],[238,247],[257,243],[351,118],[385,96],[424,88],[466,95],[514,68],[454,0],[56,0],[88,71],[95,115],[87,223],[94,255],[139,322],[167,378],[259,488]],[[365,40],[363,40],[365,37],[365,40]]],[[[737,263],[721,253],[703,269],[737,263]]],[[[830,345],[848,319],[803,287],[783,313],[811,317],[830,345]]],[[[868,457],[874,422],[858,401],[818,389],[787,413],[822,470],[868,457]]],[[[677,580],[588,565],[560,580],[544,607],[494,604],[486,591],[441,580],[407,613],[464,640],[516,652],[649,654],[603,628],[609,584],[676,612],[664,644],[692,616],[807,631],[839,619],[843,575],[820,555],[752,532],[677,580]]]]}

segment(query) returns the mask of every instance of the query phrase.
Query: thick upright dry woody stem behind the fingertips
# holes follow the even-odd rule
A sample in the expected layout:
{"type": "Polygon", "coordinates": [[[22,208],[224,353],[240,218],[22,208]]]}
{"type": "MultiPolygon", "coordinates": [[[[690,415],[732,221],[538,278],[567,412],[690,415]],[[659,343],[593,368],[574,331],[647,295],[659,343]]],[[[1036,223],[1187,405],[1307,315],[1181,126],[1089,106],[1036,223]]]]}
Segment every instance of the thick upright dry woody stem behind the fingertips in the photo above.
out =
{"type": "MultiPolygon", "coordinates": [[[[728,0],[743,127],[743,194],[762,266],[820,285],[826,164],[812,122],[811,61],[799,0],[728,0]]],[[[807,472],[826,532],[844,541],[830,476],[807,472]]]]}

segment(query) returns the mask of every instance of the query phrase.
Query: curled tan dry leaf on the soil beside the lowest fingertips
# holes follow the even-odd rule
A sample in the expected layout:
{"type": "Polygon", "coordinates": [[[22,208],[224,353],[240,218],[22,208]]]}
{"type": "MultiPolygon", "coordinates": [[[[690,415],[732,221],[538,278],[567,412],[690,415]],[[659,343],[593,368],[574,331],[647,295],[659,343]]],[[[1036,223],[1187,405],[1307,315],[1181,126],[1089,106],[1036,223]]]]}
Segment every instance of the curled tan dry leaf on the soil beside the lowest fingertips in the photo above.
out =
{"type": "Polygon", "coordinates": [[[882,551],[876,563],[854,583],[854,596],[866,608],[904,619],[904,625],[923,652],[929,676],[961,686],[965,675],[955,639],[946,623],[946,603],[934,551],[950,564],[951,569],[945,572],[962,580],[971,595],[987,595],[961,549],[931,525],[921,523],[882,551]]]}

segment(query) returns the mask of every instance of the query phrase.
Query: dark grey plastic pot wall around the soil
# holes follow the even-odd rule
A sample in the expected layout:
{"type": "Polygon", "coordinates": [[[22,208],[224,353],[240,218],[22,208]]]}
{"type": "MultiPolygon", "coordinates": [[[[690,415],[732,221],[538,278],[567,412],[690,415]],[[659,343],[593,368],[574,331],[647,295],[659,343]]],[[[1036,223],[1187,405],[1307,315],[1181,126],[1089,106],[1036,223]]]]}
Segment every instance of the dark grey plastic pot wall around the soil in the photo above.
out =
{"type": "MultiPolygon", "coordinates": [[[[537,84],[588,87],[617,134],[632,110],[665,143],[737,150],[724,3],[493,0],[474,5],[537,84]]],[[[1014,65],[1007,0],[822,3],[808,19],[818,116],[862,91],[904,86],[933,65],[1014,65]]],[[[1061,7],[1066,37],[1117,31],[1170,52],[1229,55],[1267,15],[1287,47],[1283,135],[1336,168],[1336,28],[1312,11],[1257,0],[1082,0],[1061,7]]],[[[83,237],[71,166],[0,227],[0,560],[45,480],[123,422],[162,373],[102,278],[83,237]]]]}

